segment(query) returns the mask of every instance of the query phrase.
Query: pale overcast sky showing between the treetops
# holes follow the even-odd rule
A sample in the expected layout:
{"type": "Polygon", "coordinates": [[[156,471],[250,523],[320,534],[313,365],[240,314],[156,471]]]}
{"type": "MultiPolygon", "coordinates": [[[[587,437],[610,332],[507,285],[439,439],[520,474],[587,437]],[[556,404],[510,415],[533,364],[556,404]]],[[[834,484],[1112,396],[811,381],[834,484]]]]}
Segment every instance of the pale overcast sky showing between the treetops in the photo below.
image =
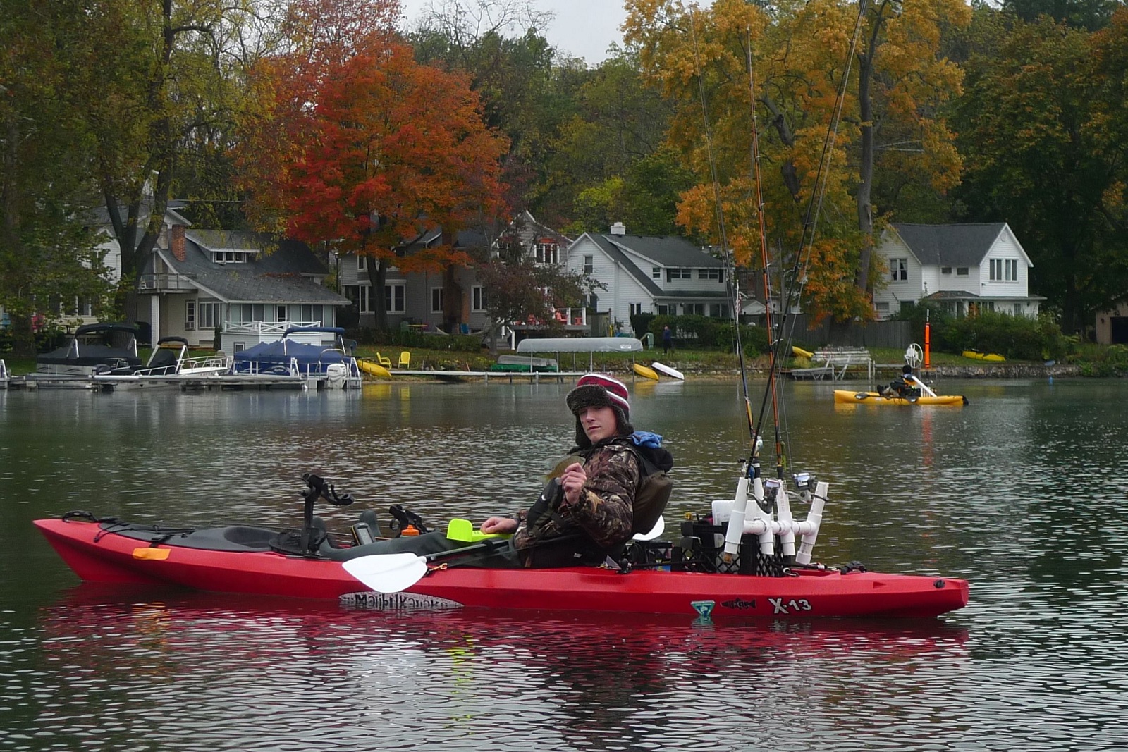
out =
{"type": "MultiPolygon", "coordinates": [[[[441,7],[441,0],[400,0],[409,25],[431,5],[441,7]]],[[[465,5],[477,5],[464,0],[465,5]]],[[[540,10],[556,14],[544,36],[557,50],[574,57],[583,57],[596,67],[607,59],[607,47],[613,42],[623,46],[619,26],[627,17],[622,0],[536,0],[540,10]]]]}

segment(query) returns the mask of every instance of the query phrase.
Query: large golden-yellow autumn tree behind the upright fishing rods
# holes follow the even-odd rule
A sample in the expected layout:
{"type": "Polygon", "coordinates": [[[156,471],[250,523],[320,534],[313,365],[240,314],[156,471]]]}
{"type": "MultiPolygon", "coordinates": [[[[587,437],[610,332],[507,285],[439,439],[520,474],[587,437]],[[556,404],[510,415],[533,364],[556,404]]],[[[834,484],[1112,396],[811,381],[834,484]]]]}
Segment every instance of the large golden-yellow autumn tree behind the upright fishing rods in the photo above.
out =
{"type": "Polygon", "coordinates": [[[882,211],[873,206],[874,186],[905,179],[943,192],[958,180],[942,107],[960,78],[938,53],[937,24],[963,23],[966,6],[816,0],[774,6],[770,16],[741,0],[717,0],[710,10],[676,0],[627,7],[628,42],[678,103],[670,141],[699,176],[679,222],[719,242],[719,194],[738,262],[758,264],[755,90],[767,246],[783,249],[778,262],[791,266],[807,253],[801,239],[817,230],[801,266],[809,310],[835,320],[872,316],[871,250],[882,211]]]}

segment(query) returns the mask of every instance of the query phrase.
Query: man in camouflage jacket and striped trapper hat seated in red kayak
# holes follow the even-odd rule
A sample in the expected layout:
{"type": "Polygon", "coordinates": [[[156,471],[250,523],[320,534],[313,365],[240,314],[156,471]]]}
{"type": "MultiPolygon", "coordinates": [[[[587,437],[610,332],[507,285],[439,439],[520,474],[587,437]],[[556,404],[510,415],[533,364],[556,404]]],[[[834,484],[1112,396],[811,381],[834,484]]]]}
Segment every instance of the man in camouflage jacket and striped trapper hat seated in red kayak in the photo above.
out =
{"type": "MultiPolygon", "coordinates": [[[[482,533],[512,534],[503,545],[459,560],[479,567],[598,566],[617,557],[636,532],[650,530],[670,496],[673,458],[662,437],[635,432],[626,386],[609,375],[582,377],[566,397],[575,446],[525,512],[491,516],[482,533]]],[[[399,537],[355,549],[355,556],[425,556],[467,546],[442,532],[399,537]]],[[[352,558],[347,556],[347,558],[352,558]]]]}

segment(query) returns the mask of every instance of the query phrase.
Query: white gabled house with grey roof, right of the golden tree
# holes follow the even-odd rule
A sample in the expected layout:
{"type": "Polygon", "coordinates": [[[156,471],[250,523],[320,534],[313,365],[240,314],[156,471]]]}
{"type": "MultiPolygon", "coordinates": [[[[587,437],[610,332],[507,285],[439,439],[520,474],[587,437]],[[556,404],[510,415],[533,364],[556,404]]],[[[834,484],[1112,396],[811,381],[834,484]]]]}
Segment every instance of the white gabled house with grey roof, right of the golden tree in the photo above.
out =
{"type": "Polygon", "coordinates": [[[883,284],[873,293],[879,319],[922,301],[953,316],[992,310],[1038,316],[1030,294],[1033,264],[1006,222],[891,224],[875,248],[883,284]]]}

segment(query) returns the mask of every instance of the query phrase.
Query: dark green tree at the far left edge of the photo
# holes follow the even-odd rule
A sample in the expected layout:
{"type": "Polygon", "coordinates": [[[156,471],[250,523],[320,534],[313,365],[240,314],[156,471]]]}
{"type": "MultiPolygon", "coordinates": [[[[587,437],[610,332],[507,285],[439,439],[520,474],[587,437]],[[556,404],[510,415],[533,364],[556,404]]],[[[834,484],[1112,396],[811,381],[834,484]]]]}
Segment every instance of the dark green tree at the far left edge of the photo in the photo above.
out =
{"type": "Polygon", "coordinates": [[[107,269],[89,229],[91,142],[68,96],[68,41],[81,3],[21,3],[0,15],[0,308],[15,353],[35,354],[33,316],[100,311],[107,269]]]}

